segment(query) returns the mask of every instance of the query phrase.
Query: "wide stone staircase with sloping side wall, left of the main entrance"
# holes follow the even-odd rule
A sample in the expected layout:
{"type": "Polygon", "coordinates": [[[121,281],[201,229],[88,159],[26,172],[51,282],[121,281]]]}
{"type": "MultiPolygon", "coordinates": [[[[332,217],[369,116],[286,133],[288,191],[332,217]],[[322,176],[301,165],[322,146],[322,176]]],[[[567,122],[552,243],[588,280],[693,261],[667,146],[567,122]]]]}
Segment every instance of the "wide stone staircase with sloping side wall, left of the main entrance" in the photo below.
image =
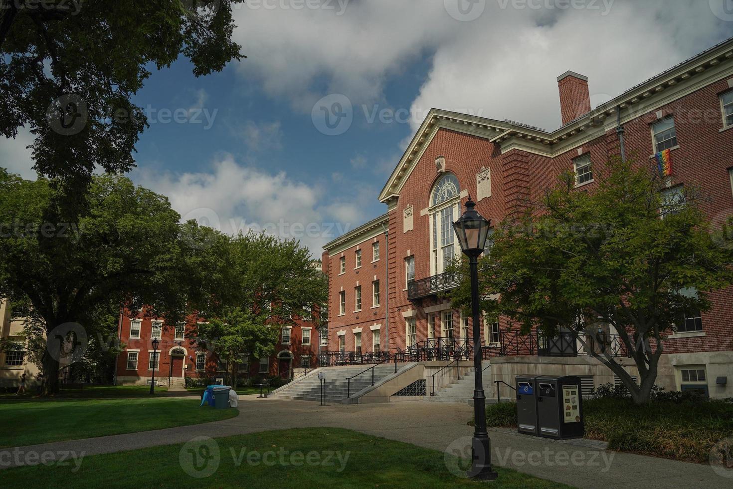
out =
{"type": "MultiPolygon", "coordinates": [[[[347,398],[348,377],[353,377],[359,372],[363,372],[369,368],[368,365],[354,365],[349,367],[324,367],[309,373],[301,379],[295,379],[287,386],[281,387],[277,391],[272,392],[268,397],[275,399],[298,399],[306,401],[320,400],[320,380],[318,372],[325,373],[326,383],[326,402],[344,402],[347,398]]],[[[375,385],[388,375],[394,374],[394,364],[384,364],[375,367],[374,381],[375,385]]],[[[359,391],[372,386],[372,372],[362,373],[357,378],[351,379],[351,397],[359,391]]]]}

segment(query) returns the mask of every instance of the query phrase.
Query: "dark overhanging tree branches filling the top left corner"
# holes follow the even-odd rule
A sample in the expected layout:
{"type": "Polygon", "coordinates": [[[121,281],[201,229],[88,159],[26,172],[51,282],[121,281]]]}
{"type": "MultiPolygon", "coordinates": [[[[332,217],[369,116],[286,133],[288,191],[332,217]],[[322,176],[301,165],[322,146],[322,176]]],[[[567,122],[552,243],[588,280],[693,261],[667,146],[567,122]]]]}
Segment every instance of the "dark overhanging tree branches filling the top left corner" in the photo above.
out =
{"type": "Polygon", "coordinates": [[[35,169],[67,184],[128,171],[147,126],[132,96],[180,54],[196,76],[243,58],[242,1],[0,0],[0,134],[30,128],[35,169]]]}

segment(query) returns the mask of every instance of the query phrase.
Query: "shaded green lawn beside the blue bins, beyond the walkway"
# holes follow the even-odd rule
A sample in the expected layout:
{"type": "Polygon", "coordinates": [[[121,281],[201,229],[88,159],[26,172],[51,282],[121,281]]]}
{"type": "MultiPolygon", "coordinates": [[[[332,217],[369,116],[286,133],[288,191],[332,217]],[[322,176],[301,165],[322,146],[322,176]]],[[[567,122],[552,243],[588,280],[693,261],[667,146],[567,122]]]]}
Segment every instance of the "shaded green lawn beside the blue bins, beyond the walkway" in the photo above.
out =
{"type": "Polygon", "coordinates": [[[237,416],[237,409],[199,408],[199,400],[32,400],[0,404],[0,447],[136,433],[237,416]]]}

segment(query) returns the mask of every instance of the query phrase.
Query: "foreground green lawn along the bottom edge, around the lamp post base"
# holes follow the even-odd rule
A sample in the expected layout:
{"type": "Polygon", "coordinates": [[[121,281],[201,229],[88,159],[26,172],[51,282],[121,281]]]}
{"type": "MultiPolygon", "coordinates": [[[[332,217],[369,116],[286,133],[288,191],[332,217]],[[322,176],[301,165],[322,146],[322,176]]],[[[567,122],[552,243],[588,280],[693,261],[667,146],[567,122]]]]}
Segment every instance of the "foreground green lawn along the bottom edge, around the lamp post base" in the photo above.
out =
{"type": "Polygon", "coordinates": [[[497,469],[499,478],[496,482],[472,482],[451,474],[443,452],[338,428],[268,431],[216,438],[208,442],[207,449],[189,442],[90,455],[81,460],[78,470],[74,468],[74,463],[65,467],[10,468],[2,472],[3,485],[23,487],[32,481],[34,487],[43,488],[110,485],[154,485],[158,488],[568,487],[505,468],[497,469]],[[194,460],[191,454],[196,453],[207,457],[199,458],[200,471],[191,463],[194,460]],[[208,477],[201,477],[207,475],[207,471],[210,471],[208,477]]]}

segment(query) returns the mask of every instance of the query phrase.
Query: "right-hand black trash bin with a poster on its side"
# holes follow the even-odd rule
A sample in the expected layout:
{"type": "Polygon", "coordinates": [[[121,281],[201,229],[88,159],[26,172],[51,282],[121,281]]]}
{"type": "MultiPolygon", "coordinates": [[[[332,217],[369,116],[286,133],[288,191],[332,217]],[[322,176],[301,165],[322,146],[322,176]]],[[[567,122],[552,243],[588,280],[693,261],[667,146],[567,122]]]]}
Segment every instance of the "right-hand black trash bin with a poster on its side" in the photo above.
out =
{"type": "Polygon", "coordinates": [[[567,440],[582,438],[583,396],[581,379],[572,375],[543,375],[537,386],[537,434],[567,440]]]}

